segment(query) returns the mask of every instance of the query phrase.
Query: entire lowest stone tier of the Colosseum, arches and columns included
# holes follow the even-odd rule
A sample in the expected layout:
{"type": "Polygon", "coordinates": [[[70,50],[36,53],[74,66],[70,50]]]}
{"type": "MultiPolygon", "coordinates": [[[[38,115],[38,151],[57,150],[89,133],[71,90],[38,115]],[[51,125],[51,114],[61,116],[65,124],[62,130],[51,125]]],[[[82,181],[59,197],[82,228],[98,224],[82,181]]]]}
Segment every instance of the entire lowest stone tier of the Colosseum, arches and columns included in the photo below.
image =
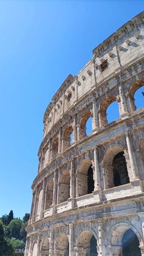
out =
{"type": "MultiPolygon", "coordinates": [[[[144,213],[52,226],[27,236],[25,256],[143,256],[144,213]]],[[[40,225],[40,224],[39,224],[40,225]]]]}

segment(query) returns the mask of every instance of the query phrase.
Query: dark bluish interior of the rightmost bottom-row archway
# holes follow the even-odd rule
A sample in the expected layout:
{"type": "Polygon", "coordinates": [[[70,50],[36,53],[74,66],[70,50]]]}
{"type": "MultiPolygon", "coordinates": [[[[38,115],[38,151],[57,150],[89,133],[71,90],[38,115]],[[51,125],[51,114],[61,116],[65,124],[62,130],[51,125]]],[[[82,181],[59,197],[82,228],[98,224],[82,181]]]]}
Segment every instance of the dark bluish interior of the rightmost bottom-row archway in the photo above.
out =
{"type": "Polygon", "coordinates": [[[141,256],[139,240],[135,233],[129,229],[122,239],[123,256],[141,256]]]}

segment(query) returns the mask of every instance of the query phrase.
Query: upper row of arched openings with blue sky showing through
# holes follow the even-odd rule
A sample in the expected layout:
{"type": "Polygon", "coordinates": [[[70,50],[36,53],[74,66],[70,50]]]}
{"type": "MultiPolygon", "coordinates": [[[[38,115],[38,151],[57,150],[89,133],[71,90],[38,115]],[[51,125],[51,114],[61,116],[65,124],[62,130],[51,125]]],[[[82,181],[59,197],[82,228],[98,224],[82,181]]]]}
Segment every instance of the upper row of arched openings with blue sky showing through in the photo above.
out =
{"type": "MultiPolygon", "coordinates": [[[[131,103],[132,111],[143,107],[143,92],[143,84],[139,84],[131,89],[131,97],[129,98],[129,101],[131,103]]],[[[51,156],[48,162],[54,160],[58,153],[65,152],[65,150],[71,147],[74,140],[80,140],[83,137],[91,134],[93,128],[95,128],[95,122],[99,123],[99,127],[101,127],[107,125],[107,123],[110,123],[115,119],[120,118],[120,115],[122,114],[120,105],[121,102],[115,96],[104,98],[98,109],[99,114],[96,117],[99,119],[98,121],[93,119],[92,110],[85,111],[84,114],[82,114],[81,119],[79,119],[79,123],[76,125],[76,128],[74,128],[73,125],[69,125],[63,131],[62,137],[57,136],[52,140],[51,147],[49,148],[49,150],[51,150],[51,156]]],[[[48,158],[47,155],[46,158],[48,158]]]]}

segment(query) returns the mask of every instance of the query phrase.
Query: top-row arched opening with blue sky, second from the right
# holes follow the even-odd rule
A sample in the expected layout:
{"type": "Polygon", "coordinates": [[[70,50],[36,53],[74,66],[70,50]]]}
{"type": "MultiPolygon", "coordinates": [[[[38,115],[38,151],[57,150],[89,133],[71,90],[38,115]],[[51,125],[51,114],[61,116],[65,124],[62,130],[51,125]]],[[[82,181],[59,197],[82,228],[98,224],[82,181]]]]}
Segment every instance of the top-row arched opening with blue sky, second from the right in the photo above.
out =
{"type": "Polygon", "coordinates": [[[99,108],[99,126],[103,127],[105,125],[107,125],[108,121],[112,122],[113,120],[115,120],[115,117],[119,117],[119,109],[118,112],[113,111],[113,109],[115,108],[115,105],[118,106],[117,103],[117,97],[115,96],[110,96],[108,98],[105,98],[99,108]],[[114,103],[115,102],[115,103],[114,103]],[[114,106],[113,106],[113,104],[114,106]],[[112,104],[112,106],[110,106],[110,104],[112,104]],[[108,109],[109,107],[109,109],[108,109]],[[108,113],[107,113],[108,111],[108,113]],[[114,114],[115,113],[115,114],[114,114]],[[108,120],[107,120],[107,114],[109,115],[108,120]]]}

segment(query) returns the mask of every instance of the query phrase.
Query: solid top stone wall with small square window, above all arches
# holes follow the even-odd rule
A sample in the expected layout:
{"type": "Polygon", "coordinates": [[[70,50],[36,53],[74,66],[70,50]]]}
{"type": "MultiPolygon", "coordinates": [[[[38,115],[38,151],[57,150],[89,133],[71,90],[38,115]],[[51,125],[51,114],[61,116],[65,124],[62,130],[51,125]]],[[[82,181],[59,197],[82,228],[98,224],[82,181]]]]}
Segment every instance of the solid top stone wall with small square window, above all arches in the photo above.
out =
{"type": "Polygon", "coordinates": [[[69,75],[52,98],[44,115],[44,138],[63,114],[77,102],[96,91],[103,82],[143,57],[144,12],[132,18],[93,49],[94,56],[78,73],[69,75]],[[139,43],[138,43],[139,40],[139,43]]]}

